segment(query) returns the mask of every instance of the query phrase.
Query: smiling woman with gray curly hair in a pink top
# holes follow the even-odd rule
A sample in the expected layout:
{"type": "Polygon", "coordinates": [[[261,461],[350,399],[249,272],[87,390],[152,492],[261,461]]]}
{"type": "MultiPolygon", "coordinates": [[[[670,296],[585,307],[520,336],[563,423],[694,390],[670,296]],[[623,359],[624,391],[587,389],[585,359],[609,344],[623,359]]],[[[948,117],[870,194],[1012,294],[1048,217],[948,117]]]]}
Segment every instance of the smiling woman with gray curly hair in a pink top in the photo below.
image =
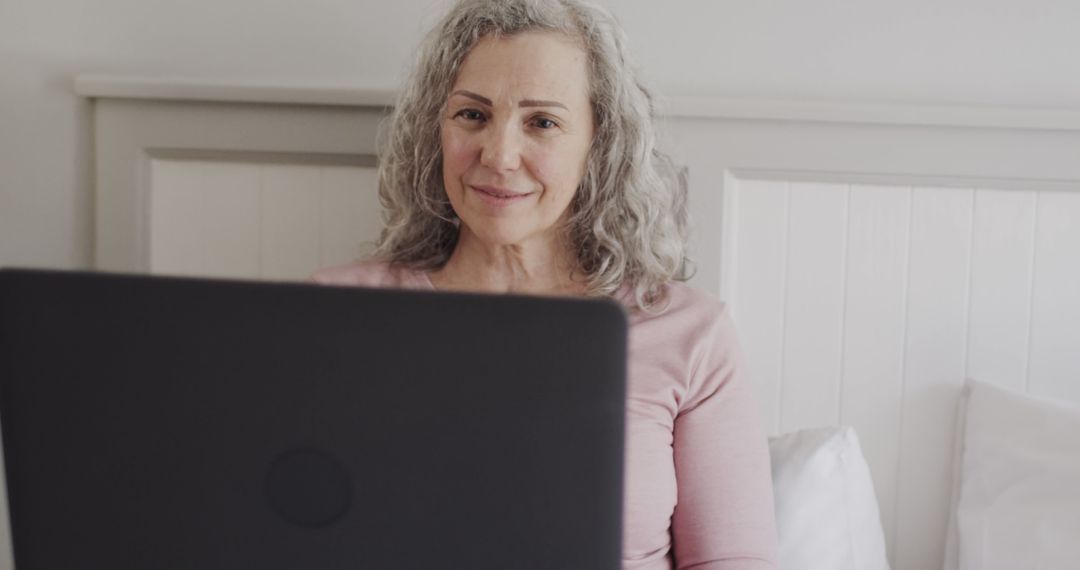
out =
{"type": "Polygon", "coordinates": [[[685,189],[611,16],[463,0],[379,166],[372,260],[318,283],[610,296],[630,313],[624,568],[775,568],[766,438],[727,310],[679,281],[685,189]]]}

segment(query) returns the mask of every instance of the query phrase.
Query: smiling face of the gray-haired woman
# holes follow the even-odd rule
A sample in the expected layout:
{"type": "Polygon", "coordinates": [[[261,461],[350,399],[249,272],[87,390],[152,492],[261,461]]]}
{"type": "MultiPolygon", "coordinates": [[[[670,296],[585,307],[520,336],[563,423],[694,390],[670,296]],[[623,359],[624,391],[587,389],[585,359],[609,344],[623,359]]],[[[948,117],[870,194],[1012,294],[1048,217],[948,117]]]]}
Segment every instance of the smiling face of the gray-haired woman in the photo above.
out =
{"type": "Polygon", "coordinates": [[[442,118],[443,182],[487,245],[557,239],[593,138],[585,53],[564,36],[481,40],[442,118]]]}

